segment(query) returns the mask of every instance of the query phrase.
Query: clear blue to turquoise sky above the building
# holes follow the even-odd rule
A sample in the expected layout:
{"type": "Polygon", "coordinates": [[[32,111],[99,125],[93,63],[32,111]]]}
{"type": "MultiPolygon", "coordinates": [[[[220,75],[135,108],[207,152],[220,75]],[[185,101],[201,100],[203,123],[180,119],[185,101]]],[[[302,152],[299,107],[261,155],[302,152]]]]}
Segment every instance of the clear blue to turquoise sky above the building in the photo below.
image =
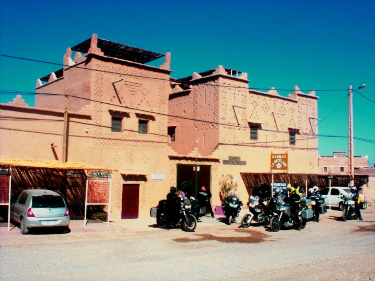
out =
{"type": "MultiPolygon", "coordinates": [[[[99,37],[171,52],[172,77],[222,64],[248,72],[252,88],[317,92],[319,134],[375,141],[375,1],[0,1],[0,54],[62,63],[67,47],[99,37]],[[333,111],[335,108],[337,109],[333,111]],[[332,113],[333,111],[333,113],[332,113]],[[327,117],[328,116],[328,117],[327,117]]],[[[155,61],[154,65],[162,61],[155,61]]],[[[34,91],[59,66],[0,57],[0,89],[34,91]]],[[[291,91],[279,91],[287,95],[291,91]]],[[[0,95],[0,102],[13,96],[0,95]]],[[[33,96],[23,96],[34,104],[33,96]]],[[[319,154],[348,151],[347,138],[319,138],[319,154]]],[[[354,141],[374,165],[375,144],[354,141]]]]}

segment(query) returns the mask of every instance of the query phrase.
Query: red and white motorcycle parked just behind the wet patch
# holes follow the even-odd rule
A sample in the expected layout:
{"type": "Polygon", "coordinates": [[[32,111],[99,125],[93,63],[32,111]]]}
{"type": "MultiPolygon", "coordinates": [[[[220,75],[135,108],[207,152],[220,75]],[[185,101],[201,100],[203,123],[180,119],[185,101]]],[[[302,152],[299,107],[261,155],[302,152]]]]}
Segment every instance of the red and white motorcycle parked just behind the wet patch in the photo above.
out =
{"type": "Polygon", "coordinates": [[[265,225],[270,223],[270,219],[273,217],[273,212],[270,211],[265,200],[259,198],[259,196],[250,196],[247,205],[249,211],[242,217],[241,227],[249,227],[252,220],[265,225]]]}

